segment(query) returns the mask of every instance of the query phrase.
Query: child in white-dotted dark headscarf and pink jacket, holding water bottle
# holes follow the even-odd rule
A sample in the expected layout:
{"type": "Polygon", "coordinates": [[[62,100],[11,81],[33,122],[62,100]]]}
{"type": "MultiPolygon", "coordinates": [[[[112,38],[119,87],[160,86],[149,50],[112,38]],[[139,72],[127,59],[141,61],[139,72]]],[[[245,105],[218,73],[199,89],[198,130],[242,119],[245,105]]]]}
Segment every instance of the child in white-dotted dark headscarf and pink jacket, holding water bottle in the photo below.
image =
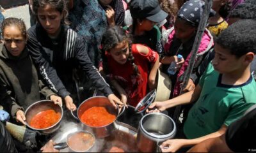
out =
{"type": "MultiPolygon", "coordinates": [[[[172,90],[173,97],[180,94],[182,76],[188,67],[196,31],[200,18],[202,17],[203,7],[204,1],[190,0],[184,3],[182,8],[178,11],[174,27],[168,29],[163,34],[165,55],[161,59],[161,63],[164,64],[163,71],[167,73],[168,66],[170,66],[173,61],[177,61],[178,54],[182,55],[185,59],[185,61],[182,60],[178,62],[180,69],[177,69],[177,73],[171,76],[172,87],[174,88],[172,90]]],[[[200,62],[204,59],[205,55],[208,54],[213,45],[214,41],[212,35],[207,29],[205,29],[198,48],[197,58],[193,68],[193,75],[191,75],[185,90],[191,91],[195,89],[195,84],[197,84],[200,76],[197,76],[194,73],[197,71],[200,62]]]]}

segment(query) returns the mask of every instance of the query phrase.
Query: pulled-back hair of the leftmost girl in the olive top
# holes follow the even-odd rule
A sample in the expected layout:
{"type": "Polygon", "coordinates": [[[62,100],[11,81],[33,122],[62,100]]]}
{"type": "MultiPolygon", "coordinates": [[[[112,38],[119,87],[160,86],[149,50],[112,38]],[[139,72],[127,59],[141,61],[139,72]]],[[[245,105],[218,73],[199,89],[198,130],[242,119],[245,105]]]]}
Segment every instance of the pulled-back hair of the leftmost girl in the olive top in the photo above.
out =
{"type": "Polygon", "coordinates": [[[6,18],[2,22],[2,35],[4,36],[4,29],[8,26],[15,25],[21,32],[24,38],[27,38],[27,29],[24,20],[21,18],[6,18]]]}

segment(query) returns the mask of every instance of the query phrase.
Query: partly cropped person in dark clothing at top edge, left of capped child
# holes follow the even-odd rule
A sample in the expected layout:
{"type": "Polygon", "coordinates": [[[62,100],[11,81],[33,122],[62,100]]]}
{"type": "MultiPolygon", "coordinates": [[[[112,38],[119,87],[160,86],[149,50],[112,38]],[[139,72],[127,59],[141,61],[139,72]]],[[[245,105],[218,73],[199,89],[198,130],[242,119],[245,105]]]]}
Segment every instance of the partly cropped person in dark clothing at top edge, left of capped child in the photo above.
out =
{"type": "Polygon", "coordinates": [[[122,0],[99,0],[100,5],[106,11],[108,25],[124,25],[124,4],[122,0]]]}

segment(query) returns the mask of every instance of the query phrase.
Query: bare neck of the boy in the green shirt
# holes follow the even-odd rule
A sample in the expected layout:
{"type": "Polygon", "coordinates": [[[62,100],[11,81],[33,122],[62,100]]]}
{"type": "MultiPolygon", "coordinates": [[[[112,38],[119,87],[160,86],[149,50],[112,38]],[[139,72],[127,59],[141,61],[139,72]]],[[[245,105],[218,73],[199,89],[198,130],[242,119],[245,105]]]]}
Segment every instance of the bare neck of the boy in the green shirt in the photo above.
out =
{"type": "Polygon", "coordinates": [[[239,69],[231,73],[223,74],[221,78],[221,84],[241,85],[248,81],[250,77],[250,66],[247,66],[245,69],[239,69]]]}

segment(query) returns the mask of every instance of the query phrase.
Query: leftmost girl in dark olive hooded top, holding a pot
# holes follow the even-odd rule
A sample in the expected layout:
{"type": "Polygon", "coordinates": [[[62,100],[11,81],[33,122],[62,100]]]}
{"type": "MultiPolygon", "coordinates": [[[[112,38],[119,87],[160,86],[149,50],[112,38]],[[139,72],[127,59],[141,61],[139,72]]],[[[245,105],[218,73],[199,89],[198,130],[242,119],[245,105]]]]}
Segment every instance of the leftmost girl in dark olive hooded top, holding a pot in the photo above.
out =
{"type": "Polygon", "coordinates": [[[48,89],[38,78],[38,73],[26,48],[26,25],[18,18],[3,21],[3,40],[0,44],[0,84],[6,88],[10,101],[1,101],[13,119],[26,125],[24,109],[40,100],[41,94],[62,105],[61,98],[48,89]]]}

